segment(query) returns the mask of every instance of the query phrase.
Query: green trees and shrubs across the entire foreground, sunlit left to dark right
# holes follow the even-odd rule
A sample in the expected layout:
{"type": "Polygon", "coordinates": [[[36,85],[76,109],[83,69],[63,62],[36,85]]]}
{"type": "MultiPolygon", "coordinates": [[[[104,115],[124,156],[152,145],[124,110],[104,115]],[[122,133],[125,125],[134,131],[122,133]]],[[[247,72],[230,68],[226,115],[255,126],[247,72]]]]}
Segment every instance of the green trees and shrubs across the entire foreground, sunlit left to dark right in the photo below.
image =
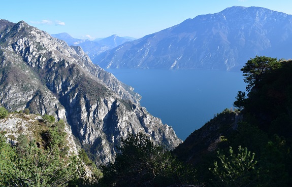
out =
{"type": "MultiPolygon", "coordinates": [[[[143,134],[129,134],[115,162],[98,169],[83,149],[78,158],[68,154],[63,122],[46,116],[40,147],[25,136],[12,145],[1,135],[0,185],[292,186],[292,61],[256,56],[241,71],[246,91],[238,92],[235,109],[201,128],[215,129],[205,135],[208,142],[194,141],[197,130],[167,151],[143,134]],[[90,177],[85,166],[94,171],[90,177]]],[[[0,113],[6,118],[5,109],[0,113]]]]}

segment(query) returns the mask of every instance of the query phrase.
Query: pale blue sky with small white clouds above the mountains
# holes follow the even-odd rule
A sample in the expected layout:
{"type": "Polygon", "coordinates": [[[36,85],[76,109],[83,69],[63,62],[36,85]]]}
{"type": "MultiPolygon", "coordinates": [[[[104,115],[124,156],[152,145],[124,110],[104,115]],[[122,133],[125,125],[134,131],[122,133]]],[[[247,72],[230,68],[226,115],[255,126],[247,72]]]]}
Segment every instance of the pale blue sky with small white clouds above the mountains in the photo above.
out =
{"type": "Polygon", "coordinates": [[[112,34],[142,38],[198,15],[232,6],[256,6],[292,14],[291,0],[30,0],[1,2],[0,19],[21,20],[49,34],[67,32],[77,39],[112,34]]]}

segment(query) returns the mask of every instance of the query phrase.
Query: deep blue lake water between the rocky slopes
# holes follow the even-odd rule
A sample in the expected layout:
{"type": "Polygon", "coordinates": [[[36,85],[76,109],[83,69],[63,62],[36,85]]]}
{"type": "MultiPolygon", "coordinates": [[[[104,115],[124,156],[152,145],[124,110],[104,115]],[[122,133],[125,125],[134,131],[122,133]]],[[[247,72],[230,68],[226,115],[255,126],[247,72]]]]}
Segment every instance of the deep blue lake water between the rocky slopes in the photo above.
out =
{"type": "Polygon", "coordinates": [[[105,69],[142,96],[148,112],[185,140],[245,91],[242,72],[202,69],[105,69]]]}

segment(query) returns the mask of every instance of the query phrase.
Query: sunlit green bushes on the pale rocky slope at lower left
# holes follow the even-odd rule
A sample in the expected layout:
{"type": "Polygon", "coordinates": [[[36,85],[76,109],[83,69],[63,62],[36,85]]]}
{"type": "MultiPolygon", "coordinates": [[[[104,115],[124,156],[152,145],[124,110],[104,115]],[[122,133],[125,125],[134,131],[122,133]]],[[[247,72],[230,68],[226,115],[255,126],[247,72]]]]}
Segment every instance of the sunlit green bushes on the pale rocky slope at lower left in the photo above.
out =
{"type": "Polygon", "coordinates": [[[0,133],[0,186],[87,186],[100,177],[96,166],[94,170],[84,162],[88,157],[70,151],[62,120],[44,115],[36,122],[33,115],[20,116],[35,127],[34,136],[20,133],[7,142],[7,132],[0,133]]]}

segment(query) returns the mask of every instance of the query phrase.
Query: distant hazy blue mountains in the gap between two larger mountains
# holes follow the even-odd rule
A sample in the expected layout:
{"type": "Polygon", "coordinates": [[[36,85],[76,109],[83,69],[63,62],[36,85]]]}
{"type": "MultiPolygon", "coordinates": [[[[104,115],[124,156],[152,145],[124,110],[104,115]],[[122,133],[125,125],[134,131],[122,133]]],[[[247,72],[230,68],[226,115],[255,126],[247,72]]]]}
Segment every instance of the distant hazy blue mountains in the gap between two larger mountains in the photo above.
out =
{"type": "Polygon", "coordinates": [[[96,55],[105,52],[109,49],[115,48],[125,42],[133,41],[134,38],[119,37],[118,35],[111,35],[104,39],[96,39],[94,41],[74,39],[68,33],[51,34],[54,38],[65,41],[69,46],[80,46],[84,52],[93,59],[96,55]]]}

